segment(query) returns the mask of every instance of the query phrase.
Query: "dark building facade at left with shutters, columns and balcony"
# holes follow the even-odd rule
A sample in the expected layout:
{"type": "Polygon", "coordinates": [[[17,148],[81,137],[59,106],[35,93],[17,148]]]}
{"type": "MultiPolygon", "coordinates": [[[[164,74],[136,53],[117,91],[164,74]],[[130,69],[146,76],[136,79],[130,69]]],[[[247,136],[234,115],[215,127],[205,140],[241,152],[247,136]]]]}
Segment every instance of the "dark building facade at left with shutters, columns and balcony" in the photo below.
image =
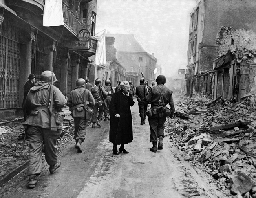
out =
{"type": "Polygon", "coordinates": [[[87,78],[88,57],[96,52],[97,0],[62,0],[64,25],[43,26],[45,0],[0,0],[0,117],[21,110],[29,74],[44,70],[68,94],[79,77],[87,78]]]}

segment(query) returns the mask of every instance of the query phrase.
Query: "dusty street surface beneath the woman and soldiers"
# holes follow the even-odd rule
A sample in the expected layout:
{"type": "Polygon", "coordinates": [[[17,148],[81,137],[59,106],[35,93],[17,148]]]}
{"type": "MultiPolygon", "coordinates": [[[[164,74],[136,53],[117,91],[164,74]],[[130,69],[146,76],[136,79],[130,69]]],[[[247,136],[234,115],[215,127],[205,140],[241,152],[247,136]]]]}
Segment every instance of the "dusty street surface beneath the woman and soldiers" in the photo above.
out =
{"type": "Polygon", "coordinates": [[[74,141],[69,142],[59,155],[61,167],[55,174],[44,166],[35,189],[28,189],[25,179],[9,197],[224,196],[207,182],[204,173],[181,158],[168,136],[162,151],[150,152],[150,128],[148,121],[140,125],[136,100],[131,110],[133,141],[125,147],[129,154],[112,157],[109,121],[102,122],[101,128],[88,126],[82,153],[77,153],[74,141]]]}

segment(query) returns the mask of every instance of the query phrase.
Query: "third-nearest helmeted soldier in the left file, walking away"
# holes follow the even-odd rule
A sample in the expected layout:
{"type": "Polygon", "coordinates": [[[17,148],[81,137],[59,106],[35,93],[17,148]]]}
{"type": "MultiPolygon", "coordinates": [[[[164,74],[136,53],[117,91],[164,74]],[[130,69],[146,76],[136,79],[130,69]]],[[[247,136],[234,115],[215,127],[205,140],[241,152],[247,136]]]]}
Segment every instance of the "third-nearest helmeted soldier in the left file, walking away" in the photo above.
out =
{"type": "Polygon", "coordinates": [[[99,86],[101,85],[101,80],[99,79],[98,81],[98,79],[96,79],[94,83],[95,83],[95,87],[91,89],[91,94],[95,99],[95,105],[92,108],[93,113],[91,117],[92,128],[95,128],[95,123],[97,123],[97,125],[101,127],[101,120],[104,113],[103,99],[107,98],[107,93],[105,89],[102,86],[101,86],[101,89],[99,88],[99,86]],[[102,90],[102,93],[101,93],[101,90],[102,90]]]}

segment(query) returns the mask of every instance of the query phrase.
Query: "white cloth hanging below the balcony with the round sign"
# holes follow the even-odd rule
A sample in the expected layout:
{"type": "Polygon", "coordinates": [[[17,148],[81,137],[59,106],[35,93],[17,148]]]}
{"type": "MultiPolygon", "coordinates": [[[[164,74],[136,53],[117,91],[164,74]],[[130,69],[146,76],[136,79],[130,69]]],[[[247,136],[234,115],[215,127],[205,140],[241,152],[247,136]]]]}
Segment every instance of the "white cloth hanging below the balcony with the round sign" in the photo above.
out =
{"type": "Polygon", "coordinates": [[[106,65],[106,30],[104,30],[101,34],[97,34],[94,36],[97,38],[97,48],[96,48],[96,55],[95,55],[95,64],[96,65],[106,65]]]}

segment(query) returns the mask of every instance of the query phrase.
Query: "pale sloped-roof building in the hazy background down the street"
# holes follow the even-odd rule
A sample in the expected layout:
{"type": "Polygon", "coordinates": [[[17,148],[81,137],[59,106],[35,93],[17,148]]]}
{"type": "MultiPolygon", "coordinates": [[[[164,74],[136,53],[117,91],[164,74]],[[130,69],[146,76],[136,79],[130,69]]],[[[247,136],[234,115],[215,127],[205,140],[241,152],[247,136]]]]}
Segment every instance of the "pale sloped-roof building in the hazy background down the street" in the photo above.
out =
{"type": "Polygon", "coordinates": [[[157,58],[154,53],[146,52],[133,34],[107,34],[107,37],[115,38],[116,58],[126,69],[127,81],[132,81],[134,86],[139,85],[141,72],[148,84],[155,80],[157,58]]]}

